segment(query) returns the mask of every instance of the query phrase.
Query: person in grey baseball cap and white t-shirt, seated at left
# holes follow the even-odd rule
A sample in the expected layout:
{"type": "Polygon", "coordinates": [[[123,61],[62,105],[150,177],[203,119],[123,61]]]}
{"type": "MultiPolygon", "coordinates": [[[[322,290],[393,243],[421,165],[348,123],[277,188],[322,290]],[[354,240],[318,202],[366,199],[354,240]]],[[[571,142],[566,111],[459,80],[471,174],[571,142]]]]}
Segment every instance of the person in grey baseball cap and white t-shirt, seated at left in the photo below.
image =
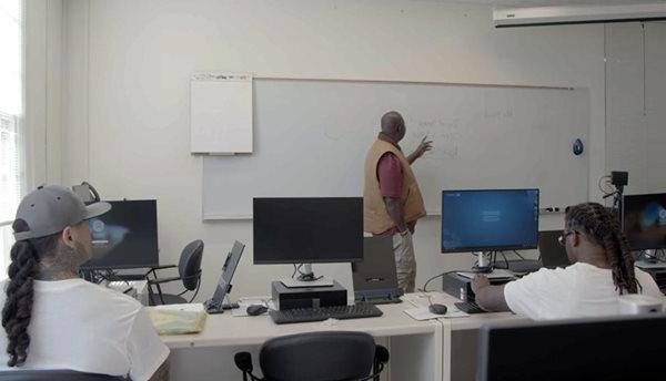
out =
{"type": "Polygon", "coordinates": [[[12,224],[9,279],[0,285],[0,372],[74,370],[167,380],[169,349],[132,298],[79,278],[91,256],[88,219],[107,203],[83,205],[71,190],[28,194],[12,224]]]}

